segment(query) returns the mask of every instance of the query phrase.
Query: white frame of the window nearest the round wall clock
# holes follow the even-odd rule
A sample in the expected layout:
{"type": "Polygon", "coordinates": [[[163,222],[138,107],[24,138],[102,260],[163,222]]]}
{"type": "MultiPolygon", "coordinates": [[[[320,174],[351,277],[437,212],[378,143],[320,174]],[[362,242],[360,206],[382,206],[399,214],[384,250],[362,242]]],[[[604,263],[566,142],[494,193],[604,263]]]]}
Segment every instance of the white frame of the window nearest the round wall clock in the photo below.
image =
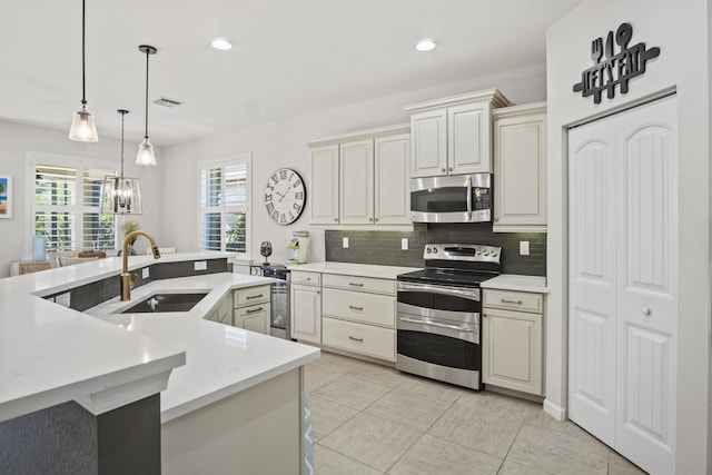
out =
{"type": "MultiPolygon", "coordinates": [[[[196,167],[196,181],[197,181],[197,202],[198,202],[198,214],[196,217],[196,221],[197,221],[197,248],[198,251],[205,251],[206,249],[204,249],[204,228],[202,228],[202,222],[204,222],[204,215],[206,214],[206,209],[210,209],[210,212],[220,212],[220,222],[225,222],[225,215],[229,214],[229,212],[239,212],[240,210],[245,211],[245,253],[238,253],[238,251],[233,251],[233,250],[227,250],[226,249],[226,240],[225,240],[225,234],[224,234],[224,229],[222,229],[222,225],[221,225],[221,231],[220,231],[220,251],[221,253],[230,253],[230,255],[233,255],[235,258],[237,259],[249,259],[251,256],[251,249],[253,249],[253,239],[251,239],[251,229],[253,229],[253,195],[251,195],[251,188],[253,188],[253,154],[251,152],[244,152],[244,154],[238,154],[231,157],[227,157],[227,158],[219,158],[219,159],[209,159],[209,160],[200,160],[197,164],[196,167]],[[235,165],[245,165],[246,166],[246,172],[245,172],[245,180],[246,180],[246,185],[245,185],[245,205],[244,206],[227,206],[225,205],[225,202],[222,201],[219,206],[215,206],[215,207],[204,207],[202,206],[202,172],[205,170],[208,170],[210,168],[217,168],[220,167],[221,170],[225,170],[225,167],[228,166],[235,166],[235,165]]],[[[222,176],[225,176],[224,171],[222,171],[222,176]]],[[[222,191],[222,188],[221,188],[222,191]]]]}

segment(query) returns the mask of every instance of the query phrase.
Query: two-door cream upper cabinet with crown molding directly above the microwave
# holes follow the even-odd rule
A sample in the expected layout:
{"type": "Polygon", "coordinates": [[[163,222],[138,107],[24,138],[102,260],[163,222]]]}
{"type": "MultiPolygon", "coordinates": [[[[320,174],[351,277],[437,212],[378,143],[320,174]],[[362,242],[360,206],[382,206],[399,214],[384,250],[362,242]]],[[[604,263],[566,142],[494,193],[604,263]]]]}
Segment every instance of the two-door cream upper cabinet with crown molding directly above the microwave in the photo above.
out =
{"type": "Polygon", "coordinates": [[[492,172],[492,110],[507,103],[491,89],[407,106],[411,176],[492,172]]]}

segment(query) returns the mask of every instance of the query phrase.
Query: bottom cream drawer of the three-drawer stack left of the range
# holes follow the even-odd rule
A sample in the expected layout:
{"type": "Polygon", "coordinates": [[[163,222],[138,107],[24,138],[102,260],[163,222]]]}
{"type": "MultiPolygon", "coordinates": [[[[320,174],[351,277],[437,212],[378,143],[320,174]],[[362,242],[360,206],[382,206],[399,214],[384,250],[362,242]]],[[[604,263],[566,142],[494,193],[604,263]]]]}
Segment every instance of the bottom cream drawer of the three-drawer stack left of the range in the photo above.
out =
{"type": "Polygon", "coordinates": [[[363,355],[395,362],[396,330],[372,327],[353,321],[325,317],[322,323],[325,346],[347,349],[363,355]]]}

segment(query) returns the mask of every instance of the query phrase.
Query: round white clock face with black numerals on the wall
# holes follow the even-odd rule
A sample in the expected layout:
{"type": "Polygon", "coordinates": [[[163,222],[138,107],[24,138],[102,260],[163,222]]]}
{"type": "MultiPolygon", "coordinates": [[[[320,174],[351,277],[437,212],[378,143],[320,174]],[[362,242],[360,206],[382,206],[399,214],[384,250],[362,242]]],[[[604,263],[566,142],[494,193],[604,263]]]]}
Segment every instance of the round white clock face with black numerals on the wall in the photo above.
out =
{"type": "Polygon", "coordinates": [[[278,225],[296,221],[307,201],[304,180],[291,168],[280,168],[267,180],[265,206],[267,214],[278,225]]]}

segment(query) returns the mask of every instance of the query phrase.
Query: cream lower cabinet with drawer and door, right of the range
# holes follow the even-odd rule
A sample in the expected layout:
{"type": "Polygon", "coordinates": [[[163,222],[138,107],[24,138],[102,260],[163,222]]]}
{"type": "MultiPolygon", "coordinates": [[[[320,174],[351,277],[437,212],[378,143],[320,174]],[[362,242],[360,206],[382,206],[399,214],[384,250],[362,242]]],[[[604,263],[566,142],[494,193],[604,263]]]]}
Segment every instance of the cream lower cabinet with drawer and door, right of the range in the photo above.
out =
{"type": "Polygon", "coordinates": [[[483,294],[483,382],[542,396],[543,295],[490,289],[483,294]]]}

